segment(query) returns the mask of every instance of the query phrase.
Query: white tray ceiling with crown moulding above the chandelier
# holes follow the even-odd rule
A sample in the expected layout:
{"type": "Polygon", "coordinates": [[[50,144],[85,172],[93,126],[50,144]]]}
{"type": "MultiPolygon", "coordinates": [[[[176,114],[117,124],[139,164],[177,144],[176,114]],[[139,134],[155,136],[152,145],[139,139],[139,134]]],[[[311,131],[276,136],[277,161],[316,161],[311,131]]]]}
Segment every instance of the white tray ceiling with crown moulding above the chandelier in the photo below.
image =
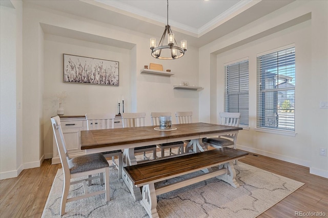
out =
{"type": "MultiPolygon", "coordinates": [[[[170,0],[169,25],[178,40],[200,47],[295,0],[170,0]]],[[[159,38],[166,0],[23,0],[159,38]]],[[[49,29],[49,27],[48,27],[49,29]]],[[[67,30],[66,30],[67,31],[67,30]]]]}

